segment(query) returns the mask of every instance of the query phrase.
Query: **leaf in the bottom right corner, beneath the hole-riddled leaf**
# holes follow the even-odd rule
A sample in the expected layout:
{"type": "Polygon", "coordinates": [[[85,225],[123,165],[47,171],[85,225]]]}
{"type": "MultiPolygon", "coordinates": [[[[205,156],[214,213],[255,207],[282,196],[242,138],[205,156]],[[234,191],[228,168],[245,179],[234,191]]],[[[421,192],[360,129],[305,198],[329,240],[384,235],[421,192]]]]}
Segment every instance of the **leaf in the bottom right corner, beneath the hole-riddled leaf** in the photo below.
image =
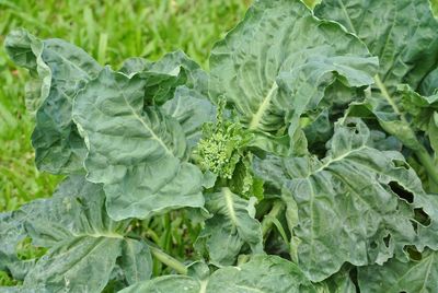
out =
{"type": "Polygon", "coordinates": [[[383,266],[359,268],[360,292],[416,293],[438,291],[438,253],[426,251],[420,260],[392,259],[383,266]]]}

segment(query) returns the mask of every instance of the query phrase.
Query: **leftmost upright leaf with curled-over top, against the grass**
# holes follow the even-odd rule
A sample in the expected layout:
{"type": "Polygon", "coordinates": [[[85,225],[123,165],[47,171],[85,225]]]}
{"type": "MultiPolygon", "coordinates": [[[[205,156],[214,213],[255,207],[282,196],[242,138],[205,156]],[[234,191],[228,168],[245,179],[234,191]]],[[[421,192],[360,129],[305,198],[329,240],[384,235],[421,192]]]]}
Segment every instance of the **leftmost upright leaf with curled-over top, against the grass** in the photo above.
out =
{"type": "Polygon", "coordinates": [[[32,144],[37,167],[54,174],[82,172],[87,149],[71,120],[71,104],[101,66],[74,45],[39,40],[25,31],[10,33],[4,44],[12,60],[34,77],[26,85],[26,103],[36,112],[32,144]]]}

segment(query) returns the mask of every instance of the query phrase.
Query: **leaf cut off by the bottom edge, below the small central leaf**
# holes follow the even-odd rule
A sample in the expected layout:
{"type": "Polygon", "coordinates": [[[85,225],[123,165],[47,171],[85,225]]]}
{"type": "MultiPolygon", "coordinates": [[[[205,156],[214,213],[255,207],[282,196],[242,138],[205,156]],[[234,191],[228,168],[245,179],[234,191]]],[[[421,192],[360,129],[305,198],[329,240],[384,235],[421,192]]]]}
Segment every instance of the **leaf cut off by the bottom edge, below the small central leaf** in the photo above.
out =
{"type": "Polygon", "coordinates": [[[122,290],[129,292],[250,293],[315,292],[300,269],[277,256],[254,256],[239,267],[224,267],[210,277],[164,276],[122,290]]]}

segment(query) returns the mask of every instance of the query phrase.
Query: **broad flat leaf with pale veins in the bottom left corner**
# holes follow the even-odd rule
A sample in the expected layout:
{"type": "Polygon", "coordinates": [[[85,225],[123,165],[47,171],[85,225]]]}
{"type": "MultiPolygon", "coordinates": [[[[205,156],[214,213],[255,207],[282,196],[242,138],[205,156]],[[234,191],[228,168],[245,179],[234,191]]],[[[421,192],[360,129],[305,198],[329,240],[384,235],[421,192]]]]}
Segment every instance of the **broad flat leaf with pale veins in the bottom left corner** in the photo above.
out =
{"type": "Polygon", "coordinates": [[[33,245],[49,248],[25,276],[23,290],[101,292],[117,261],[128,283],[151,276],[149,247],[124,236],[129,221],[111,220],[102,186],[81,176],[68,178],[53,198],[23,206],[13,216],[33,245]]]}

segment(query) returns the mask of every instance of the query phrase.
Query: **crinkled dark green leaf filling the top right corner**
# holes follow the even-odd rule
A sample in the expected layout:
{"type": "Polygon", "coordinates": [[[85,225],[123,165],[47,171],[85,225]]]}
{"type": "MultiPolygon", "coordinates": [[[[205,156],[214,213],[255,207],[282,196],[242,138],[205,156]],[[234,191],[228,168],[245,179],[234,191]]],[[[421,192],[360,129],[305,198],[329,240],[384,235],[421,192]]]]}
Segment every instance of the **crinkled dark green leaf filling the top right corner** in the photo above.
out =
{"type": "Polygon", "coordinates": [[[436,63],[438,22],[428,0],[324,0],[315,14],[342,23],[367,44],[390,93],[402,82],[416,89],[436,63]]]}

